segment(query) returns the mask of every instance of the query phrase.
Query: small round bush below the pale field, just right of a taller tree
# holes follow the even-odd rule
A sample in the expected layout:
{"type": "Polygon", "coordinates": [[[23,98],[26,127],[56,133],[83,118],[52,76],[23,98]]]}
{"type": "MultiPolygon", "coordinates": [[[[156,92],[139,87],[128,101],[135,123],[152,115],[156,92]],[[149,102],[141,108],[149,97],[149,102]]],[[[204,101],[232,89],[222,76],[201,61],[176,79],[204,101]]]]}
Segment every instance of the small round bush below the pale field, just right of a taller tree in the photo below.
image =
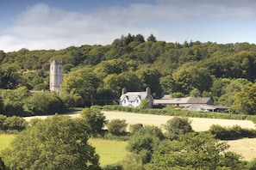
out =
{"type": "Polygon", "coordinates": [[[126,128],[128,124],[125,119],[112,119],[107,124],[108,131],[116,136],[122,136],[126,134],[126,128]]]}

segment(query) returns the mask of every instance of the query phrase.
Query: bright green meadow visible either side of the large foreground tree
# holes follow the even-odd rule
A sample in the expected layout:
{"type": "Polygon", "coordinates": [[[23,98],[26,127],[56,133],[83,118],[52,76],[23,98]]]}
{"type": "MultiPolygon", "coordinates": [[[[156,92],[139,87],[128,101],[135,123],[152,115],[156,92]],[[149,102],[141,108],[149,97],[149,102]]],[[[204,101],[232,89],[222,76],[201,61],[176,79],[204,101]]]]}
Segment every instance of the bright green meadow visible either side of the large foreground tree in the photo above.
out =
{"type": "MultiPolygon", "coordinates": [[[[1,134],[0,151],[9,147],[9,144],[15,137],[15,135],[1,134]]],[[[89,143],[96,148],[96,152],[100,156],[101,167],[122,161],[125,155],[128,154],[128,151],[125,149],[128,142],[91,138],[89,143]]]]}

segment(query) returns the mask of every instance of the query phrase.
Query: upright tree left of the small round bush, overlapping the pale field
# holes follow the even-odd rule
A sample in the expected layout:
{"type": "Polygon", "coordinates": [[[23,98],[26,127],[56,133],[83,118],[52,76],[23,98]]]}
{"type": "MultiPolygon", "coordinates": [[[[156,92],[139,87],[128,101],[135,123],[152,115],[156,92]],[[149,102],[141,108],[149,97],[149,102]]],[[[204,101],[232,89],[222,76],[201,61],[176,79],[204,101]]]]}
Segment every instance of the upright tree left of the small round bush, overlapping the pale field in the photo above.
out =
{"type": "Polygon", "coordinates": [[[106,117],[103,112],[97,109],[84,108],[81,115],[85,123],[91,127],[91,132],[94,136],[103,134],[103,127],[106,124],[106,117]]]}

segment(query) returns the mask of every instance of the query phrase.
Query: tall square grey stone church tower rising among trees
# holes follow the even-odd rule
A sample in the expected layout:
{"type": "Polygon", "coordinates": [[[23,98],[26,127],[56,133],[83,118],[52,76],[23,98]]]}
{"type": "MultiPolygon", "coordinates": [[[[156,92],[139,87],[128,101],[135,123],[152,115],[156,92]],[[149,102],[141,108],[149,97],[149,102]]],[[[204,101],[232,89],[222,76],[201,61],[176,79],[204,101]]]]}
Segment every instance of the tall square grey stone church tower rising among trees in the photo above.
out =
{"type": "Polygon", "coordinates": [[[59,92],[59,85],[62,83],[63,69],[62,62],[56,60],[50,64],[50,91],[59,92]]]}

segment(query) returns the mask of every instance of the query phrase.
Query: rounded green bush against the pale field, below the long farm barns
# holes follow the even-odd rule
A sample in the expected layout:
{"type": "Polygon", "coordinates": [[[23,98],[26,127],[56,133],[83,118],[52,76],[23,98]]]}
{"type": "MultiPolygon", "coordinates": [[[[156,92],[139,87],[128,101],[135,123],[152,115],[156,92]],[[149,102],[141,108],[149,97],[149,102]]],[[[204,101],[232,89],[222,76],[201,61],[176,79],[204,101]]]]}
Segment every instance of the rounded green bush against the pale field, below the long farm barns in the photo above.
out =
{"type": "Polygon", "coordinates": [[[192,132],[191,122],[188,118],[174,117],[165,124],[167,137],[171,140],[177,139],[179,135],[192,132]]]}

